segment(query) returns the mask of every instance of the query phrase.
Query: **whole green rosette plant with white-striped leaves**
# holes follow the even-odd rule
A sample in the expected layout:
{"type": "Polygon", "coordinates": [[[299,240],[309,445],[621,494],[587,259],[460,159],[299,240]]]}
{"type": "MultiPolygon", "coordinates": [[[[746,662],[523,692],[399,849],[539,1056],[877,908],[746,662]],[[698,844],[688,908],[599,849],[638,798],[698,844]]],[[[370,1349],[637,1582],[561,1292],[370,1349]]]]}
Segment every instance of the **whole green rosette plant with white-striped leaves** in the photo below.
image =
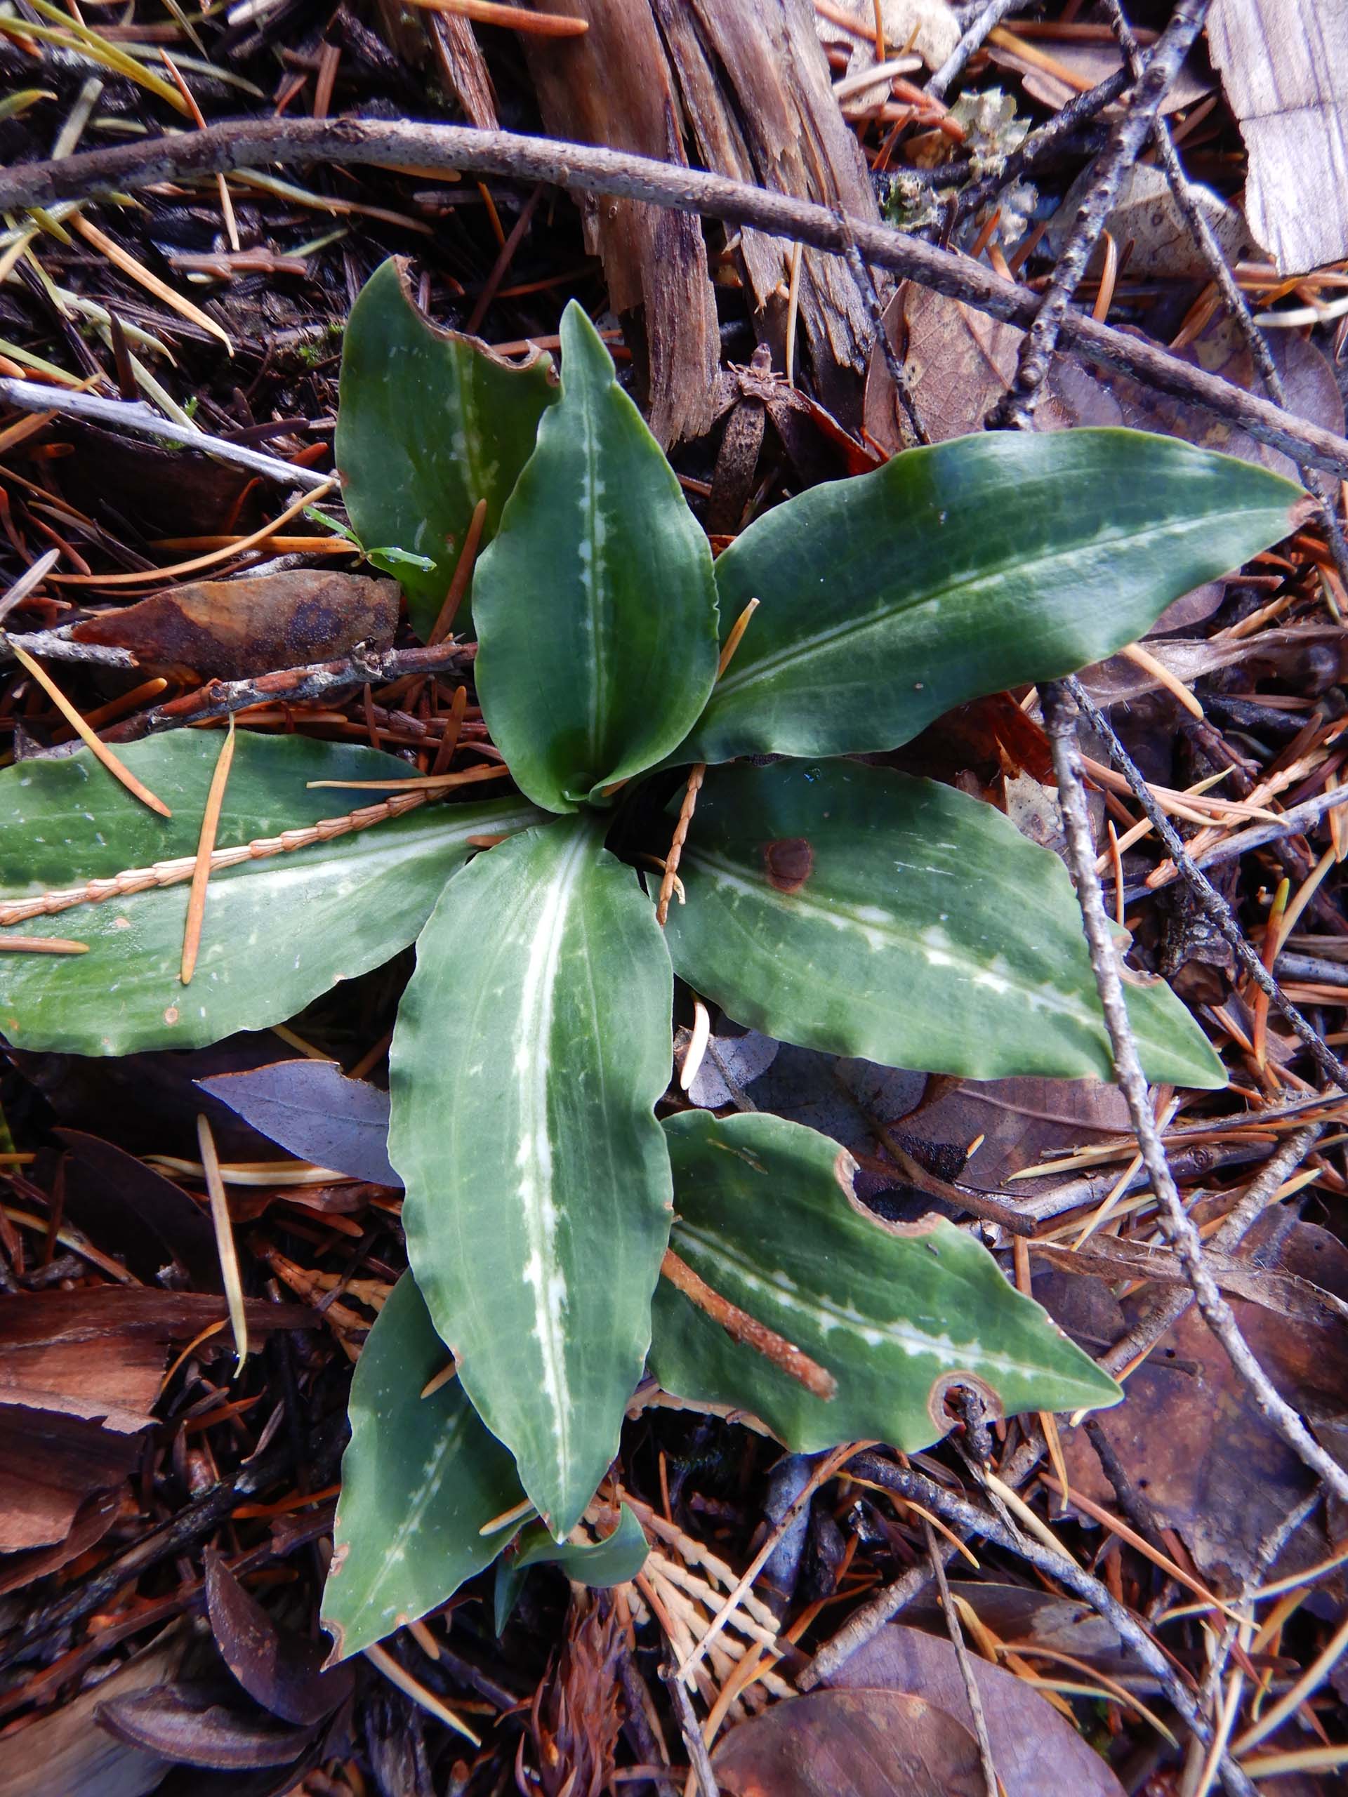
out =
{"type": "MultiPolygon", "coordinates": [[[[647,1371],[802,1450],[922,1448],[953,1384],[1001,1412],[1114,1402],[974,1236],[861,1206],[829,1138],[665,1103],[674,979],[838,1055],[1109,1078],[1055,855],[987,803],[850,757],[1113,654],[1281,537],[1299,489],[1154,435],[989,433],[802,492],[714,562],[577,305],[557,377],[433,329],[394,264],[350,316],[338,465],[422,636],[485,501],[457,624],[509,796],[401,787],[413,771],[376,749],[243,731],[183,987],[217,739],[126,749],[169,819],[84,751],[0,775],[0,918],[88,945],[0,956],[22,1048],[212,1042],[417,945],[390,1057],[410,1272],[352,1385],[334,1651],[501,1554],[505,1589],[548,1556],[631,1576],[631,1511],[607,1540],[584,1518],[647,1371]],[[343,785],[372,791],[345,810],[343,785]],[[683,902],[661,927],[676,819],[683,902]],[[501,1515],[521,1531],[482,1533],[501,1515]]],[[[1127,997],[1154,1080],[1222,1084],[1163,983],[1127,997]]]]}

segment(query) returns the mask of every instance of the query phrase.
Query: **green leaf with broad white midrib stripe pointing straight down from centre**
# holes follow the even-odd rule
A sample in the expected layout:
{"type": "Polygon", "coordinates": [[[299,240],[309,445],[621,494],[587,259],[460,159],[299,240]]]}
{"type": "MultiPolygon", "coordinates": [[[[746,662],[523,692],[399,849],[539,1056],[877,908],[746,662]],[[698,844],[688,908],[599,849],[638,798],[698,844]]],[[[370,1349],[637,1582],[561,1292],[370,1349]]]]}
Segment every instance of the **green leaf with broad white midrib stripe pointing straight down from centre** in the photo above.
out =
{"type": "Polygon", "coordinates": [[[417,1283],[559,1540],[616,1452],[670,1218],[672,974],[602,843],[527,830],[446,888],[390,1057],[417,1283]]]}

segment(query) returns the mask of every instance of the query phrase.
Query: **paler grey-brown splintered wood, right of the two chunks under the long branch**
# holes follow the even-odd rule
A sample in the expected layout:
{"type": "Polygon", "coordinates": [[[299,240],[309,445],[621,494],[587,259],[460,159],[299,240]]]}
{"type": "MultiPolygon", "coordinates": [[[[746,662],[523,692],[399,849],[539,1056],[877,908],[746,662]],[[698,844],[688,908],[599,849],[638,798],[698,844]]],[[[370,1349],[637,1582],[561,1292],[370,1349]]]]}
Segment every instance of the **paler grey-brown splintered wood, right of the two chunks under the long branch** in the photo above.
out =
{"type": "MultiPolygon", "coordinates": [[[[809,0],[652,0],[701,164],[735,180],[875,221],[857,140],[843,122],[809,0]]],[[[758,340],[784,367],[791,244],[744,230],[741,262],[758,340]]],[[[803,356],[820,401],[854,429],[870,320],[847,262],[805,250],[803,356]]]]}

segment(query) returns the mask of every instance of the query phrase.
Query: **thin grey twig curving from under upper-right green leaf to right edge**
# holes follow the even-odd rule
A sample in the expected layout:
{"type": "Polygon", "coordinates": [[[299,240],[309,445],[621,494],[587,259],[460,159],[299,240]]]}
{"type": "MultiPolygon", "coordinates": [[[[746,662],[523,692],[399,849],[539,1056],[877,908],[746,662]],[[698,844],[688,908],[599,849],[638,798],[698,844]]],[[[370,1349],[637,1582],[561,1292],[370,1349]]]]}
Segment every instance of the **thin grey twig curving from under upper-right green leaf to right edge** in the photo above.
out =
{"type": "Polygon", "coordinates": [[[1053,751],[1053,769],[1059,780],[1059,807],[1068,845],[1068,868],[1077,882],[1077,902],[1082,909],[1086,942],[1091,952],[1091,970],[1100,992],[1100,1006],[1105,1014],[1105,1028],[1114,1057],[1114,1076],[1129,1107],[1147,1172],[1152,1175],[1152,1191],[1161,1209],[1161,1227],[1170,1247],[1179,1256],[1193,1297],[1202,1312],[1202,1319],[1226,1350],[1238,1378],[1246,1384],[1256,1409],[1283,1441],[1319,1474],[1341,1502],[1348,1502],[1348,1474],[1316,1441],[1298,1412],[1278,1396],[1267,1373],[1249,1351],[1235,1312],[1222,1297],[1211,1272],[1202,1258],[1202,1238],[1193,1218],[1184,1209],[1179,1190],[1165,1157],[1165,1145],[1156,1129],[1147,1078],[1138,1060],[1138,1046],[1132,1039],[1127,1005],[1123,1003],[1123,979],[1118,969],[1118,952],[1105,916],[1105,902],[1100,881],[1095,873],[1095,843],[1091,841],[1091,823],[1086,810],[1086,789],[1082,787],[1082,762],[1077,746],[1077,704],[1068,688],[1059,681],[1050,681],[1042,692],[1044,728],[1053,751]]]}

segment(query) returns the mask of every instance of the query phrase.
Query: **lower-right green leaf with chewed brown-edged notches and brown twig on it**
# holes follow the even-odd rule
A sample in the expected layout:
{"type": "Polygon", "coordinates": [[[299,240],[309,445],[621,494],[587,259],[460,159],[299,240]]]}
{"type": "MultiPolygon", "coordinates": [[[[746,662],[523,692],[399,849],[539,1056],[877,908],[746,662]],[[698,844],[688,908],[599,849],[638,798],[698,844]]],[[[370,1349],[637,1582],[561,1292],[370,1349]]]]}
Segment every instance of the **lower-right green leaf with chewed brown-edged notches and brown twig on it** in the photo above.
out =
{"type": "Polygon", "coordinates": [[[838,1380],[832,1398],[812,1396],[661,1279],[651,1371],[676,1396],[751,1411],[798,1452],[924,1448],[951,1425],[956,1382],[1003,1416],[1118,1403],[1113,1378],[972,1236],[940,1217],[886,1224],[865,1209],[856,1161],[827,1136],[708,1111],[669,1118],[665,1136],[674,1253],[838,1380]]]}

